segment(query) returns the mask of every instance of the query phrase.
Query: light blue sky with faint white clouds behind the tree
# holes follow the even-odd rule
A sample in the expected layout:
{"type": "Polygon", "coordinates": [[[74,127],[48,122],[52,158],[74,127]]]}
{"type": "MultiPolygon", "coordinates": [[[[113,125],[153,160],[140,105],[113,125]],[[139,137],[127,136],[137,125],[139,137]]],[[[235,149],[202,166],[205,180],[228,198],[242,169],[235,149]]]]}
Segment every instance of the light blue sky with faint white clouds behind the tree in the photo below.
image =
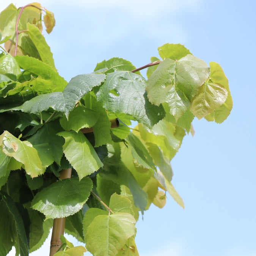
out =
{"type": "MultiPolygon", "coordinates": [[[[0,9],[11,2],[1,0],[0,9]]],[[[194,120],[195,136],[184,138],[171,162],[185,210],[171,196],[163,209],[151,206],[137,223],[135,241],[141,256],[256,256],[255,1],[40,3],[55,14],[46,39],[68,81],[112,57],[143,66],[167,42],[222,66],[234,102],[231,115],[223,124],[194,120]]],[[[31,255],[48,252],[49,243],[31,255]]]]}

